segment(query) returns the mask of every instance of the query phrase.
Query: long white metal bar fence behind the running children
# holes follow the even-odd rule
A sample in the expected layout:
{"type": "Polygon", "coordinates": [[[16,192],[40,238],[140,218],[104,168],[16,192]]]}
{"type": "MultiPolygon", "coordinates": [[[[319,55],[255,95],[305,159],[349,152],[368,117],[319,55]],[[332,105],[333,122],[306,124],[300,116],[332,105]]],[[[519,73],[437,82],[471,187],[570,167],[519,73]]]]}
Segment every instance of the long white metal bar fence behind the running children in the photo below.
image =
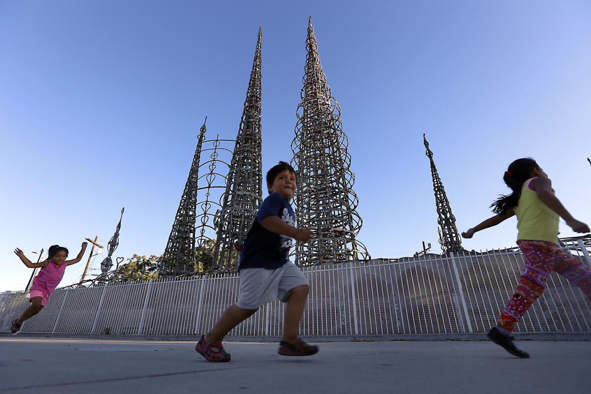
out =
{"type": "MultiPolygon", "coordinates": [[[[591,265],[589,242],[568,245],[591,265]]],[[[304,336],[487,331],[517,286],[515,249],[425,255],[392,261],[307,267],[310,294],[304,336]]],[[[22,333],[192,335],[212,327],[238,300],[238,274],[64,288],[23,324],[22,333]]],[[[28,294],[0,293],[0,332],[28,305],[28,294]]],[[[232,336],[281,335],[284,305],[265,305],[232,336]]],[[[591,332],[591,305],[556,273],[524,318],[521,332],[591,332]]]]}

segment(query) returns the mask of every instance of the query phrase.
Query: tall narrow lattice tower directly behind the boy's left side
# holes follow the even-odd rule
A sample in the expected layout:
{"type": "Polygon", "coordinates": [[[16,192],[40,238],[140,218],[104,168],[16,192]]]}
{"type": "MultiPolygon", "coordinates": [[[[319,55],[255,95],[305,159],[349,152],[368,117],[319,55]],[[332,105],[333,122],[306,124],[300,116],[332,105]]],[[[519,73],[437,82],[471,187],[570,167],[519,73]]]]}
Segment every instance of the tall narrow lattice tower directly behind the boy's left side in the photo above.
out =
{"type": "Polygon", "coordinates": [[[215,220],[217,239],[212,270],[217,272],[236,270],[234,243],[243,242],[262,202],[261,38],[262,26],[259,27],[222,209],[215,220]]]}

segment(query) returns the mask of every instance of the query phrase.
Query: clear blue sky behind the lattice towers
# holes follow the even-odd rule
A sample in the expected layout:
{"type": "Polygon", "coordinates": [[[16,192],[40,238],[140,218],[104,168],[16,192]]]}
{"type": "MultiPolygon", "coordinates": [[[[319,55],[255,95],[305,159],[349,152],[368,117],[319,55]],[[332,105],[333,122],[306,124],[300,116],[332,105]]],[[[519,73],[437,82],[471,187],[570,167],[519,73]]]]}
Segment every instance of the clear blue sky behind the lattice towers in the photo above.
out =
{"type": "MultiPolygon", "coordinates": [[[[423,132],[460,231],[528,156],[591,222],[587,1],[0,1],[0,290],[30,276],[14,248],[106,246],[124,206],[113,258],[163,252],[204,117],[236,136],[261,24],[264,171],[291,159],[309,14],[372,257],[438,245],[423,132]]],[[[515,236],[512,219],[463,245],[515,236]]]]}

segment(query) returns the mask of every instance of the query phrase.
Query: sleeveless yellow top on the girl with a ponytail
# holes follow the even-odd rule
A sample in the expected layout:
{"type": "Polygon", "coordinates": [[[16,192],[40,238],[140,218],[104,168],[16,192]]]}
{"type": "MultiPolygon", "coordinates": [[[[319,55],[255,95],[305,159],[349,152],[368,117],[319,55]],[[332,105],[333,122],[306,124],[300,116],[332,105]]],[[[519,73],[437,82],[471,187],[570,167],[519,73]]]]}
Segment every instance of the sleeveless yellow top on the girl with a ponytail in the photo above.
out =
{"type": "MultiPolygon", "coordinates": [[[[546,241],[558,244],[558,214],[540,201],[535,191],[530,189],[528,179],[521,188],[521,196],[517,207],[517,240],[527,239],[546,241]]],[[[554,193],[554,192],[553,192],[554,193]]]]}

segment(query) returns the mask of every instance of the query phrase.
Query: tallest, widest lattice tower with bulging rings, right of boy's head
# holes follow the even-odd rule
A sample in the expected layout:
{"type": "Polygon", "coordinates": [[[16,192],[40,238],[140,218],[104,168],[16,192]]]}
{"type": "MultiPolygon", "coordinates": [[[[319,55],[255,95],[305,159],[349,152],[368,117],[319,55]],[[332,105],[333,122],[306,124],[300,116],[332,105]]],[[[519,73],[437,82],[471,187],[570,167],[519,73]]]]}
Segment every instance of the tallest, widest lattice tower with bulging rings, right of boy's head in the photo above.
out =
{"type": "Polygon", "coordinates": [[[307,243],[298,242],[292,253],[298,266],[369,259],[367,249],[355,238],[362,220],[352,188],[355,175],[350,170],[349,140],[343,133],[339,103],[320,65],[311,15],[306,48],[291,164],[297,172],[297,225],[311,229],[313,236],[307,243]]]}

